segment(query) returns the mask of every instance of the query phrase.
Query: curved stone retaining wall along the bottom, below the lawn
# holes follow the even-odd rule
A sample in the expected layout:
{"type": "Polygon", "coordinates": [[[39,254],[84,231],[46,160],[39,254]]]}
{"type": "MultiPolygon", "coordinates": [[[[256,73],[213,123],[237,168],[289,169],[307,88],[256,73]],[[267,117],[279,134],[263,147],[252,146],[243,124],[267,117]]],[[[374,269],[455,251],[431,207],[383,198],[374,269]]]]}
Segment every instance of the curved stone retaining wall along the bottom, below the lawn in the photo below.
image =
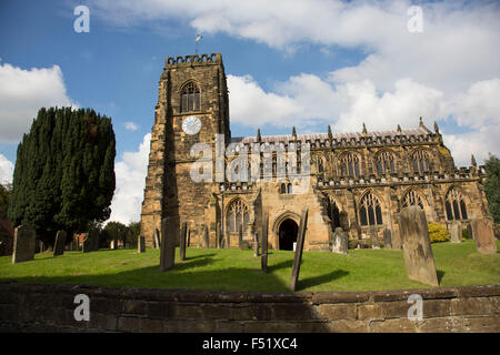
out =
{"type": "Polygon", "coordinates": [[[500,284],[248,293],[0,283],[2,332],[500,332],[500,284]],[[77,322],[74,296],[90,298],[77,322]],[[408,320],[411,294],[423,321],[408,320]]]}

